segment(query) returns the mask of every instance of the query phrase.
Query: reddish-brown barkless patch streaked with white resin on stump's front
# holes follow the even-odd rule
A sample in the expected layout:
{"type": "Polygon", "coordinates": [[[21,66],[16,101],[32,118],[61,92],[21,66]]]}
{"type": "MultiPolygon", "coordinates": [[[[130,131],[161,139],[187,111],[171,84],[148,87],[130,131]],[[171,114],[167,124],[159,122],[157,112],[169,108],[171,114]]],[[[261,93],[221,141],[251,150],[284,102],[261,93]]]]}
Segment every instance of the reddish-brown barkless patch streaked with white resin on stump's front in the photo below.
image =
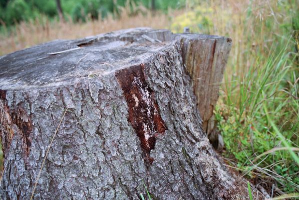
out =
{"type": "Polygon", "coordinates": [[[154,91],[145,81],[144,64],[121,69],[115,73],[128,103],[128,121],[141,141],[144,159],[152,162],[150,151],[155,148],[156,138],[167,127],[163,121],[154,91]]]}

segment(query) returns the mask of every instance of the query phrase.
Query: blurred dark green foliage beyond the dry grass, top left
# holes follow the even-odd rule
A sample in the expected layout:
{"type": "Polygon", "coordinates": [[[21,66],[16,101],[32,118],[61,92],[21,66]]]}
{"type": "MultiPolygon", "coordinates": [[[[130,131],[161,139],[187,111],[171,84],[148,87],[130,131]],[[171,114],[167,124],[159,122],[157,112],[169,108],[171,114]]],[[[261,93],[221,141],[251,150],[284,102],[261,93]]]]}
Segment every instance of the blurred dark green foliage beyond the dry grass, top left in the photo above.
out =
{"type": "MultiPolygon", "coordinates": [[[[185,0],[155,0],[155,8],[167,12],[169,8],[179,8],[185,0]]],[[[151,8],[151,0],[61,0],[65,16],[75,21],[86,21],[87,18],[103,19],[107,15],[119,16],[121,7],[130,7],[131,14],[140,11],[139,6],[151,8]]],[[[55,0],[0,0],[0,21],[11,25],[22,20],[40,18],[45,15],[58,17],[55,0]]]]}

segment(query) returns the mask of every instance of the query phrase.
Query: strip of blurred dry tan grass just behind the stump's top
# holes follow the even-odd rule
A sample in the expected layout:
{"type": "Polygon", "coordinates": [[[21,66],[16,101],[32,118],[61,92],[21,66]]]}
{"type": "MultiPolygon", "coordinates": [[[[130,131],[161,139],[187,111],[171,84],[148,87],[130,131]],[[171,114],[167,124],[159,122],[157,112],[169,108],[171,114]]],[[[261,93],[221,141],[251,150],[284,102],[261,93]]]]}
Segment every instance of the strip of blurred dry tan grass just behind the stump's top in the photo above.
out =
{"type": "Polygon", "coordinates": [[[141,6],[136,13],[132,13],[127,7],[120,10],[119,18],[108,15],[103,20],[86,19],[85,23],[74,23],[70,18],[65,22],[59,22],[41,16],[35,20],[20,22],[14,27],[0,26],[0,55],[54,39],[74,39],[141,26],[165,28],[170,25],[171,16],[182,12],[172,11],[169,15],[160,12],[152,14],[141,6]]]}

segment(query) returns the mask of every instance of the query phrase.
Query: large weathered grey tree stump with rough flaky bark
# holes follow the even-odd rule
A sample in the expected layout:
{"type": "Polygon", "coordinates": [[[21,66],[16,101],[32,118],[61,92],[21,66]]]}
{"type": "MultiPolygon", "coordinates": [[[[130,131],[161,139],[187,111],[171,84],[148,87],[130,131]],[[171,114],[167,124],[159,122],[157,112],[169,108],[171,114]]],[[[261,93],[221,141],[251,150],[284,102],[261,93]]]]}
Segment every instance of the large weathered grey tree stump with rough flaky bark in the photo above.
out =
{"type": "Polygon", "coordinates": [[[211,53],[229,45],[136,28],[0,57],[1,198],[30,198],[61,119],[34,199],[138,199],[142,180],[154,199],[246,197],[201,128],[197,103],[214,101],[197,101],[192,85],[193,53],[208,56],[200,71],[216,70],[225,59],[211,64],[211,53]]]}

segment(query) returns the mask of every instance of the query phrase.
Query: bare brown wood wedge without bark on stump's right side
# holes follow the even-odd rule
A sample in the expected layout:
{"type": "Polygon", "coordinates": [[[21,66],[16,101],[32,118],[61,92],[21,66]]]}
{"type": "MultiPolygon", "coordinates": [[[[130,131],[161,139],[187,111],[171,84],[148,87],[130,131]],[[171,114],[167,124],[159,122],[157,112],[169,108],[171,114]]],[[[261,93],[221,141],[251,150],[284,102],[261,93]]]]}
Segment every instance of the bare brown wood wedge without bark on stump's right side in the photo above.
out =
{"type": "MultiPolygon", "coordinates": [[[[213,110],[219,97],[219,85],[231,49],[231,39],[218,36],[203,39],[197,35],[183,37],[183,62],[192,77],[197,107],[203,120],[202,127],[214,147],[219,144],[215,131],[213,110]]],[[[220,135],[221,136],[221,135],[220,135]]],[[[221,141],[220,141],[221,142],[221,141]]]]}

